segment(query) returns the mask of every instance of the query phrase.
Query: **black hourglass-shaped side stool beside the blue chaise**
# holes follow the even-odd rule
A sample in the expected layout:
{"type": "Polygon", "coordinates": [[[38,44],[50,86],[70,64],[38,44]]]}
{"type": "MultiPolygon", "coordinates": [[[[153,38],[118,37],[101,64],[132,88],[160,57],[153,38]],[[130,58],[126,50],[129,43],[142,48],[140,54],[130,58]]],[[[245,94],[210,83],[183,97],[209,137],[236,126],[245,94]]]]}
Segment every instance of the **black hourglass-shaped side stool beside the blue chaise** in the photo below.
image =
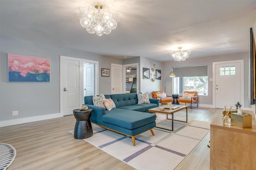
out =
{"type": "Polygon", "coordinates": [[[74,117],[76,118],[76,125],[74,128],[74,138],[85,139],[90,138],[93,135],[92,124],[90,117],[92,115],[92,109],[80,111],[80,109],[73,110],[74,117]]]}

